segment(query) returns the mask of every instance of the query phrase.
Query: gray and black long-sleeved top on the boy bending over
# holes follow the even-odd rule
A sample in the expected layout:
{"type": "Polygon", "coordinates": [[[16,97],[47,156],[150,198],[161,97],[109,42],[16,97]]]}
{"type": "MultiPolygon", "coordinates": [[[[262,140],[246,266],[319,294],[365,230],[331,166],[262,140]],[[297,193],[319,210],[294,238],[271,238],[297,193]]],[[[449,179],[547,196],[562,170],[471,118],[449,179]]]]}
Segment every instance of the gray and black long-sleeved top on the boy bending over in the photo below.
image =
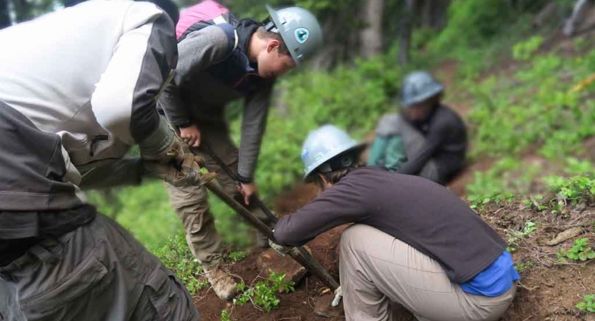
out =
{"type": "Polygon", "coordinates": [[[228,24],[207,26],[192,32],[178,44],[176,73],[159,104],[169,121],[180,126],[194,121],[220,122],[227,103],[245,98],[238,173],[244,178],[252,178],[274,81],[263,80],[254,91],[246,94],[226,83],[228,79],[224,77],[227,75],[213,71],[217,63],[226,60],[234,51],[235,43],[229,37],[230,27],[228,24]]]}

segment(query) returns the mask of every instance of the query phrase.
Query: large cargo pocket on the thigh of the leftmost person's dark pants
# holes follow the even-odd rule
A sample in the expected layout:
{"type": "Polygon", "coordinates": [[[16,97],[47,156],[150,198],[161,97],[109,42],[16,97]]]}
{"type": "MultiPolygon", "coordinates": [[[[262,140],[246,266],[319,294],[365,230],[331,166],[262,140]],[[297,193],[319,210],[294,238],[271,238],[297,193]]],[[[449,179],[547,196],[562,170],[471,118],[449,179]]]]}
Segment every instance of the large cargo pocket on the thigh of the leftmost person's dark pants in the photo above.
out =
{"type": "MultiPolygon", "coordinates": [[[[64,316],[69,312],[99,305],[101,300],[94,300],[94,295],[89,292],[105,290],[112,280],[113,275],[105,265],[90,255],[68,277],[56,280],[55,285],[43,292],[29,297],[19,297],[19,302],[29,320],[64,320],[64,316]],[[60,315],[62,317],[56,319],[60,315]]],[[[74,320],[75,314],[69,315],[68,320],[74,320]]]]}

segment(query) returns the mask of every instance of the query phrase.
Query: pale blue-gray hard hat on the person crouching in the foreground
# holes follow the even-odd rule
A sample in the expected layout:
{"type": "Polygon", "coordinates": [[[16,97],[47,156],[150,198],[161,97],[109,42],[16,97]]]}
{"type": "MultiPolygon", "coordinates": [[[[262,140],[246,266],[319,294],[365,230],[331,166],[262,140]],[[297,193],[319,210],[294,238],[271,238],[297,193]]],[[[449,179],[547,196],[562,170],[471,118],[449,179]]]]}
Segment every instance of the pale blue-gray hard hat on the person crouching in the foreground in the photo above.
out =
{"type": "MultiPolygon", "coordinates": [[[[364,143],[358,143],[349,137],[349,134],[345,131],[333,125],[324,125],[311,131],[301,148],[301,161],[304,163],[304,178],[307,178],[314,170],[328,165],[327,162],[336,158],[336,156],[341,154],[346,155],[349,151],[361,151],[364,146],[364,143]]],[[[341,165],[344,167],[354,165],[352,164],[354,163],[353,159],[346,159],[341,162],[341,165]],[[351,163],[348,163],[349,161],[351,163]]]]}

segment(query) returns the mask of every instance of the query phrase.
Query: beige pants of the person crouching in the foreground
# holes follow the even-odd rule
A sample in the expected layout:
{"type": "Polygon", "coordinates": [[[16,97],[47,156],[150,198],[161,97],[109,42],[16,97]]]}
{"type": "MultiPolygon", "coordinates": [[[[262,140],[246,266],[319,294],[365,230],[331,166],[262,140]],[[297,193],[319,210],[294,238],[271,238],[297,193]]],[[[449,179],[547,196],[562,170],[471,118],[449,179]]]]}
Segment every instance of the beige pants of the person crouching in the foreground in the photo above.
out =
{"type": "Polygon", "coordinates": [[[470,295],[435,260],[368,225],[344,231],[339,270],[348,321],[394,320],[394,303],[424,321],[498,320],[516,292],[470,295]]]}

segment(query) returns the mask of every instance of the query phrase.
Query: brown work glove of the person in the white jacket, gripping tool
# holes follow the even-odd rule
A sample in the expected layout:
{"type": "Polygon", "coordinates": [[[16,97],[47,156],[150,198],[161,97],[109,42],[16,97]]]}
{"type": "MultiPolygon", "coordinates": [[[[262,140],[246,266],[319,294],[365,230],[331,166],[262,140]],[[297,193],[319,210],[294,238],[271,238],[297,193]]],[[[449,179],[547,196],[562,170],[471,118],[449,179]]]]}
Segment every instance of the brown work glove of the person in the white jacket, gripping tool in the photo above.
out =
{"type": "Polygon", "coordinates": [[[172,160],[181,163],[185,153],[191,153],[186,144],[167,124],[164,118],[159,119],[159,126],[154,133],[139,143],[141,157],[147,161],[167,164],[172,160]]]}

